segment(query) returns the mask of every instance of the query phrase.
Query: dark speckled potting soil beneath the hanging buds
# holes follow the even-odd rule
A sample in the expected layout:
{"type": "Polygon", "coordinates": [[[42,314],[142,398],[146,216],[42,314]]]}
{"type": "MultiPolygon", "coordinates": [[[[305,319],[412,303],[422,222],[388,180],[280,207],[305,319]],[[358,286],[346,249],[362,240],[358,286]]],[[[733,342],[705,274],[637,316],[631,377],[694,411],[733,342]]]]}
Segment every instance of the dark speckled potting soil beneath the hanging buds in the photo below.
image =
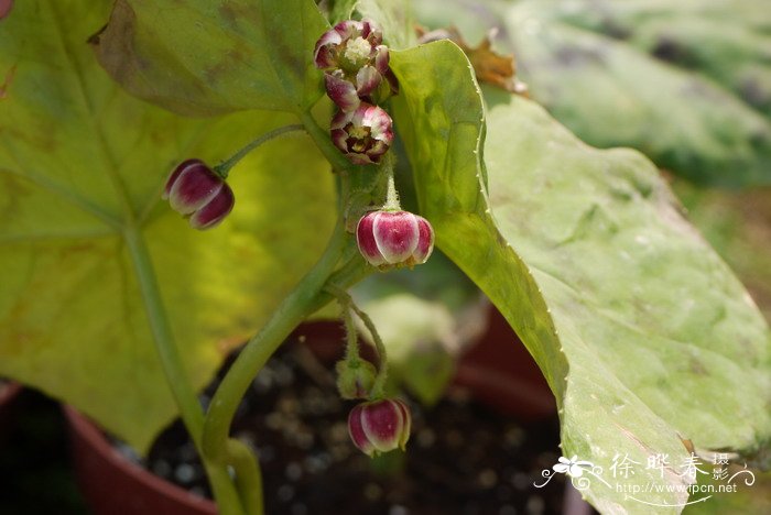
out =
{"type": "MultiPolygon", "coordinates": [[[[406,452],[371,460],[350,442],[347,416],[356,403],[338,397],[330,370],[290,341],[238,410],[234,435],[258,452],[268,514],[562,513],[560,474],[543,489],[533,486],[557,461],[556,417],[518,424],[459,387],[428,408],[406,397],[413,416],[406,452]]],[[[202,396],[204,404],[215,387],[202,396]]],[[[158,439],[145,467],[210,495],[180,423],[158,439]]]]}

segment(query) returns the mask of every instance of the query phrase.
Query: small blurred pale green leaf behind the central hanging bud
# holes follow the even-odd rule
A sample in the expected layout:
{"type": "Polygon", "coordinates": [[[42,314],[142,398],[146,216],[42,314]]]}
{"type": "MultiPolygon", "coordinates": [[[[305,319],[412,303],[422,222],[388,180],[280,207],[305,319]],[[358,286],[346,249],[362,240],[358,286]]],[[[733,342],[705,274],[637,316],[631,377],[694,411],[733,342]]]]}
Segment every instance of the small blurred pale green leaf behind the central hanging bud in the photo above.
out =
{"type": "MultiPolygon", "coordinates": [[[[399,193],[402,207],[415,211],[404,201],[405,190],[399,193]]],[[[424,405],[442,398],[458,355],[479,340],[488,325],[489,303],[439,251],[415,271],[370,275],[351,294],[388,349],[388,379],[394,393],[404,386],[424,405]]],[[[374,344],[363,324],[359,326],[360,335],[374,344]]]]}

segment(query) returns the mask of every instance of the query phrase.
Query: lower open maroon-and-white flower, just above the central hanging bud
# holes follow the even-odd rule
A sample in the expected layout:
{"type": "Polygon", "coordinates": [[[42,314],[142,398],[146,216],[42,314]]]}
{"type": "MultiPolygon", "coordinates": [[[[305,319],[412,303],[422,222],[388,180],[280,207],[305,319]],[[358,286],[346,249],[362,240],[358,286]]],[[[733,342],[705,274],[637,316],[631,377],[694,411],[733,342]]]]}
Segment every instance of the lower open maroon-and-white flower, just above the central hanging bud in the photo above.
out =
{"type": "Polygon", "coordinates": [[[391,117],[378,106],[361,105],[350,112],[338,111],[332,119],[332,141],[357,165],[379,163],[391,146],[391,117]]]}

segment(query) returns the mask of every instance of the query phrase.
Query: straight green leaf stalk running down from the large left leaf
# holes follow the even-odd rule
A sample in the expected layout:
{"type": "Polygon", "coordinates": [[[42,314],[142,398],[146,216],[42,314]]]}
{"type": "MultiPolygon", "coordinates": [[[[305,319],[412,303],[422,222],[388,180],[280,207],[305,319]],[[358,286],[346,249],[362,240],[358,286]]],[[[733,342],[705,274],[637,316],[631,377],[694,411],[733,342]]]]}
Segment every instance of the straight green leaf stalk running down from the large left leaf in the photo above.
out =
{"type": "MultiPolygon", "coordinates": [[[[150,322],[150,329],[153,333],[163,372],[166,375],[174,401],[180,408],[182,420],[196,448],[200,451],[204,414],[174,342],[150,252],[142,238],[140,228],[134,222],[129,221],[126,224],[123,237],[137,272],[148,321],[150,322]]],[[[230,481],[227,469],[221,464],[213,463],[205,457],[203,458],[220,513],[222,515],[240,515],[243,513],[238,493],[230,481]]]]}

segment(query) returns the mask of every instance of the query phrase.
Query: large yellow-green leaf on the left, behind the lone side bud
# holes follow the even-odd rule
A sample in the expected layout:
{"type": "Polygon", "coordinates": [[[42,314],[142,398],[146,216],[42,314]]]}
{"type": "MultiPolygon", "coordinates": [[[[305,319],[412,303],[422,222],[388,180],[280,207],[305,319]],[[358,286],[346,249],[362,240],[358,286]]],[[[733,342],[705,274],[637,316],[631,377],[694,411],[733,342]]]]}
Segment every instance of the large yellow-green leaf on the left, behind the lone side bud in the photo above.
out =
{"type": "Polygon", "coordinates": [[[121,238],[127,219],[142,223],[202,386],[314,262],[334,196],[326,161],[297,138],[234,169],[236,208],[211,231],[159,202],[175,162],[224,158],[287,117],[194,121],[128,96],[86,44],[108,9],[25,1],[2,22],[0,75],[13,73],[0,99],[0,374],[144,449],[176,408],[121,238]]]}

